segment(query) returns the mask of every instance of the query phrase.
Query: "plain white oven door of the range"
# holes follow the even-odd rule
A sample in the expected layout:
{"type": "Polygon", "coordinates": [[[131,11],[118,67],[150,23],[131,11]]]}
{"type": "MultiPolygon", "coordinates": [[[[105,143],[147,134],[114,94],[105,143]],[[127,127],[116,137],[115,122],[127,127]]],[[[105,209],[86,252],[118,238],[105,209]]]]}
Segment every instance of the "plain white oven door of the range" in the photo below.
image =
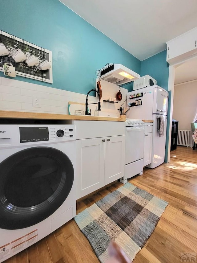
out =
{"type": "Polygon", "coordinates": [[[144,127],[126,127],[125,164],[143,158],[144,154],[144,127]]]}

